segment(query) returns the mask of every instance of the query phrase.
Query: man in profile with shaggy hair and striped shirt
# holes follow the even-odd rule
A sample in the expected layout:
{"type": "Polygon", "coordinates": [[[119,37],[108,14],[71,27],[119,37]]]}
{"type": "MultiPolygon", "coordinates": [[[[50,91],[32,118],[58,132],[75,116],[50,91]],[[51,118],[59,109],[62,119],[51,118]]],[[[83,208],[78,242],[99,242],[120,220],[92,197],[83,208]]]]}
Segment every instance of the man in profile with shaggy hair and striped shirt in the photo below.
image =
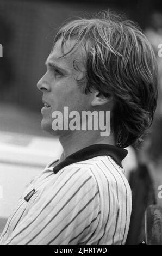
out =
{"type": "Polygon", "coordinates": [[[152,123],[157,100],[152,48],[133,22],[102,12],[62,27],[46,66],[38,82],[45,105],[41,126],[59,136],[64,153],[23,193],[1,243],[124,245],[132,195],[121,162],[127,155],[123,148],[139,141],[152,123]],[[95,122],[91,130],[67,126],[65,107],[80,119],[83,111],[111,111],[109,136],[101,136],[95,122]],[[55,123],[55,111],[63,123],[55,123]]]}

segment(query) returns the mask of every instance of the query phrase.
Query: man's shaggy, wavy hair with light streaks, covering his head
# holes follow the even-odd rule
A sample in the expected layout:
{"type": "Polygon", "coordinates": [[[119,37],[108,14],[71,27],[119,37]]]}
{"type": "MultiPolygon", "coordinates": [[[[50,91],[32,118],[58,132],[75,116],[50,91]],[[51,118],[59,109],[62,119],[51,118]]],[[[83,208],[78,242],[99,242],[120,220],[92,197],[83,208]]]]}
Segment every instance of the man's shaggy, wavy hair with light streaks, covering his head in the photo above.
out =
{"type": "MultiPolygon", "coordinates": [[[[111,129],[116,145],[141,141],[152,124],[157,105],[157,62],[151,45],[136,23],[107,11],[66,23],[55,36],[63,56],[80,45],[86,51],[85,93],[99,90],[113,96],[111,129]],[[66,54],[66,40],[76,39],[66,54]]],[[[82,81],[78,81],[78,83],[82,81]]]]}

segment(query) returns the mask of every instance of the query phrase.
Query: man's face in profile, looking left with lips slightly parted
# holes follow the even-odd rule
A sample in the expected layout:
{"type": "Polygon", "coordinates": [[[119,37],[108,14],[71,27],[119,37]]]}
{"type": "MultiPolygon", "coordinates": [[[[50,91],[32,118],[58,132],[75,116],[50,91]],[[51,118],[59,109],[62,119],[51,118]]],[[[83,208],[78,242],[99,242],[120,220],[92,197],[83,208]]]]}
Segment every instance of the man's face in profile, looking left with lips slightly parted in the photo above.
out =
{"type": "MultiPolygon", "coordinates": [[[[74,42],[74,40],[66,42],[65,53],[71,49],[74,42]]],[[[65,57],[61,56],[63,53],[61,52],[61,39],[59,39],[47,58],[47,72],[37,85],[43,93],[43,103],[47,105],[41,109],[43,115],[41,126],[43,130],[53,135],[60,135],[60,132],[64,132],[64,107],[68,107],[69,112],[78,111],[80,113],[91,110],[92,101],[92,94],[86,95],[83,92],[86,81],[80,85],[76,81],[76,79],[83,78],[86,72],[83,48],[80,46],[75,52],[67,54],[65,57]],[[77,70],[73,63],[77,66],[77,70]],[[52,113],[54,111],[60,111],[63,114],[63,131],[53,131],[52,129],[52,113]]]]}

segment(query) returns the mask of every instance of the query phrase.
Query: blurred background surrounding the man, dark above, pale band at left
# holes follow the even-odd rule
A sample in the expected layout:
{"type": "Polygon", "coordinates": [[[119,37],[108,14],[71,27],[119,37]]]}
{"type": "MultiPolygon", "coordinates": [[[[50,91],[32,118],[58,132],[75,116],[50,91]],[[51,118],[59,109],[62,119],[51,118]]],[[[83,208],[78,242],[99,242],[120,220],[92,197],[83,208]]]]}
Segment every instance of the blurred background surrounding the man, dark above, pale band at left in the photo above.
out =
{"type": "Polygon", "coordinates": [[[58,139],[41,130],[42,95],[36,88],[46,71],[54,35],[70,17],[108,9],[138,22],[157,57],[159,99],[154,124],[138,149],[129,148],[123,166],[133,190],[141,182],[141,190],[133,195],[144,194],[144,208],[148,195],[149,203],[162,205],[162,57],[158,54],[162,1],[0,0],[0,233],[27,183],[61,154],[58,139]]]}

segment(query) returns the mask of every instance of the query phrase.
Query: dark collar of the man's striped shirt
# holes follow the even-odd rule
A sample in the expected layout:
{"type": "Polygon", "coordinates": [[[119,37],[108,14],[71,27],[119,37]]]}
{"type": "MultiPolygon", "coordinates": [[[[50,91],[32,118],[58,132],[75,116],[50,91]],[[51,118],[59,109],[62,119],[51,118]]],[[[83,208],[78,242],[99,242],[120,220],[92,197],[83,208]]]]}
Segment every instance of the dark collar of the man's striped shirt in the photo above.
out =
{"type": "Polygon", "coordinates": [[[53,168],[53,172],[56,174],[59,172],[60,169],[63,169],[65,166],[68,166],[72,163],[88,160],[96,156],[111,156],[114,161],[122,168],[121,162],[127,154],[128,151],[126,149],[122,149],[113,145],[94,144],[66,157],[63,162],[60,162],[57,166],[53,168]]]}

